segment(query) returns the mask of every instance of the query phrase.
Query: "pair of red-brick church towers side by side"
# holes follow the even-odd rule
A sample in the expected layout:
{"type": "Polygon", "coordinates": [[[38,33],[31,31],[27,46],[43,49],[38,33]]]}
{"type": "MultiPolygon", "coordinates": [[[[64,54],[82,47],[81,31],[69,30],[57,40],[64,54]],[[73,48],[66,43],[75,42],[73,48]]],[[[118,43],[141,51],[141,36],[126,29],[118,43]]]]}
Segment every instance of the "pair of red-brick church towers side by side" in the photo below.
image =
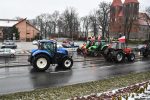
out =
{"type": "Polygon", "coordinates": [[[124,34],[128,25],[127,20],[134,20],[131,28],[131,37],[138,31],[136,23],[138,22],[139,2],[138,0],[113,0],[110,10],[110,36],[118,37],[120,33],[124,34]],[[125,26],[126,25],[126,26],[125,26]]]}

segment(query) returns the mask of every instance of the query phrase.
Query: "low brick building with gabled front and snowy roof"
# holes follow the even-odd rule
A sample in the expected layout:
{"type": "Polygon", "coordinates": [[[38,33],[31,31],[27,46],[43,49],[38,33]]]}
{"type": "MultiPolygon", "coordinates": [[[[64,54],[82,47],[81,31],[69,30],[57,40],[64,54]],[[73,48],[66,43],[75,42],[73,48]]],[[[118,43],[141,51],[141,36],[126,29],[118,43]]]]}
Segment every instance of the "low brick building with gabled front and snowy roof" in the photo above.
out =
{"type": "Polygon", "coordinates": [[[21,20],[0,19],[1,40],[4,39],[3,29],[13,27],[13,26],[15,26],[19,31],[20,41],[31,41],[40,33],[40,31],[36,27],[31,25],[26,19],[21,19],[21,20]]]}

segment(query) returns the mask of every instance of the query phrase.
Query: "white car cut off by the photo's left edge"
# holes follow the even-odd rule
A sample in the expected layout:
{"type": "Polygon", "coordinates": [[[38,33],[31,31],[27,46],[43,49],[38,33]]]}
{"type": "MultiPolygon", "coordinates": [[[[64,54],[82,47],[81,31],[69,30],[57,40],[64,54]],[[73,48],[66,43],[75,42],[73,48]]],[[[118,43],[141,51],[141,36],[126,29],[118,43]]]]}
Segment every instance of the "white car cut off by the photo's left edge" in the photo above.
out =
{"type": "Polygon", "coordinates": [[[0,57],[15,57],[16,51],[10,48],[0,49],[0,57]]]}

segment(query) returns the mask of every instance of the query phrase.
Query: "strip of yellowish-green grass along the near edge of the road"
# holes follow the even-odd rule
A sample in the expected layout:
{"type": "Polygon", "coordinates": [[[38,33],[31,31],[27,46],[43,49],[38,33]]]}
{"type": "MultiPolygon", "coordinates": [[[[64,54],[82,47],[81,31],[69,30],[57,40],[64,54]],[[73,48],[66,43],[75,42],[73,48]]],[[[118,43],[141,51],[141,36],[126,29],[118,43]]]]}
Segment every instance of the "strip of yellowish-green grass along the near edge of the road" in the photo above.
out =
{"type": "Polygon", "coordinates": [[[100,81],[1,95],[0,100],[64,100],[75,96],[101,93],[148,80],[150,80],[150,71],[130,73],[100,81]]]}

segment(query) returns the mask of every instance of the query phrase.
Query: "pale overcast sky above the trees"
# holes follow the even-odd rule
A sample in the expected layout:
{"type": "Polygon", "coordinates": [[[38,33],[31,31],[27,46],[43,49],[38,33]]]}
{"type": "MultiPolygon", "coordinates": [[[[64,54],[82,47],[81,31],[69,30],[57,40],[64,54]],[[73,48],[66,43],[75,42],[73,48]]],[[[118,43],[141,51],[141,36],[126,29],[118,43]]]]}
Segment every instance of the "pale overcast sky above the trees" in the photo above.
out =
{"type": "MultiPolygon", "coordinates": [[[[81,17],[97,9],[102,1],[113,0],[0,0],[0,19],[12,19],[17,16],[32,19],[41,13],[53,13],[55,10],[61,13],[67,7],[74,7],[81,17]]],[[[141,10],[150,6],[150,0],[139,2],[141,10]]]]}

